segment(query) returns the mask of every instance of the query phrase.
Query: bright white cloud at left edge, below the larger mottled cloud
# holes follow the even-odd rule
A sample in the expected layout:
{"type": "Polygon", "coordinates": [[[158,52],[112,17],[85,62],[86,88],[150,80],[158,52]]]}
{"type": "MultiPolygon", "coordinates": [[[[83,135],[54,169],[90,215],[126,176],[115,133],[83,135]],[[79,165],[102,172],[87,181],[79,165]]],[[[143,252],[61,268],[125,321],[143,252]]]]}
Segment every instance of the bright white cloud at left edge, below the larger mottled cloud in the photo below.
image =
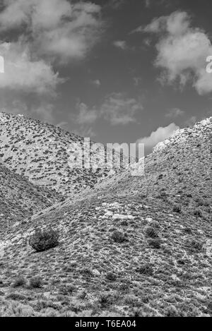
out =
{"type": "Polygon", "coordinates": [[[57,84],[63,82],[51,65],[42,59],[33,60],[28,47],[20,42],[1,43],[0,54],[6,59],[4,74],[0,75],[0,88],[42,95],[54,93],[57,84]]]}

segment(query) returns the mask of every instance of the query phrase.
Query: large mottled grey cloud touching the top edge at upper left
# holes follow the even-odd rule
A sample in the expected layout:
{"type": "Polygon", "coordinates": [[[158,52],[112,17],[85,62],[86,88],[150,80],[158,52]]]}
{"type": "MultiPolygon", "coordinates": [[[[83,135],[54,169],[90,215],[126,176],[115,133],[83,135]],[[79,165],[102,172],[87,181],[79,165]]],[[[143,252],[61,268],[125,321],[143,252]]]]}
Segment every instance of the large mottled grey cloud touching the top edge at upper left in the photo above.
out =
{"type": "Polygon", "coordinates": [[[100,6],[67,0],[4,0],[0,30],[25,26],[34,52],[66,62],[81,59],[98,40],[100,6]]]}

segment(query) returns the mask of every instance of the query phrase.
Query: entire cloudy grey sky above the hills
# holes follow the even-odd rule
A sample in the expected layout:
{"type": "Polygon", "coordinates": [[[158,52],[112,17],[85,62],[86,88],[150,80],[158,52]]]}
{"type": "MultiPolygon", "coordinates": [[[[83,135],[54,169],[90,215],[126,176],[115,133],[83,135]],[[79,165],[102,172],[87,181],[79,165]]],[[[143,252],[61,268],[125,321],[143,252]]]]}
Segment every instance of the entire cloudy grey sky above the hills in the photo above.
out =
{"type": "Polygon", "coordinates": [[[211,116],[211,11],[208,0],[0,0],[0,111],[151,150],[211,116]]]}

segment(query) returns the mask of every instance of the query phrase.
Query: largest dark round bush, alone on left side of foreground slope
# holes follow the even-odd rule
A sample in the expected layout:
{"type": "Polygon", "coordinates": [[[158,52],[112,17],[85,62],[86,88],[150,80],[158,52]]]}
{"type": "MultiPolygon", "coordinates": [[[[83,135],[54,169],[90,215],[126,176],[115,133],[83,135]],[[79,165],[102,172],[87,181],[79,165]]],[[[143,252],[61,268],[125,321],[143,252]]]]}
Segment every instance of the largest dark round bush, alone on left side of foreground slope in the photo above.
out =
{"type": "Polygon", "coordinates": [[[30,237],[29,244],[37,252],[47,251],[59,245],[59,234],[52,229],[36,229],[30,237]]]}

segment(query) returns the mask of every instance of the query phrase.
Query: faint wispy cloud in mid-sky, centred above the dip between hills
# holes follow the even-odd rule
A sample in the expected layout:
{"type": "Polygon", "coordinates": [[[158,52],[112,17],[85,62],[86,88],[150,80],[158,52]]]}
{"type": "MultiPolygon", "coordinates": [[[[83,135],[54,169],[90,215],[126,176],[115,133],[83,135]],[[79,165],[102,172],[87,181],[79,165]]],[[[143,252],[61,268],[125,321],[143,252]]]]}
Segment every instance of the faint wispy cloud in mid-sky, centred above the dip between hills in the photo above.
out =
{"type": "Polygon", "coordinates": [[[112,125],[126,125],[136,121],[135,114],[141,109],[141,102],[124,97],[122,93],[112,93],[102,104],[100,114],[112,125]]]}

